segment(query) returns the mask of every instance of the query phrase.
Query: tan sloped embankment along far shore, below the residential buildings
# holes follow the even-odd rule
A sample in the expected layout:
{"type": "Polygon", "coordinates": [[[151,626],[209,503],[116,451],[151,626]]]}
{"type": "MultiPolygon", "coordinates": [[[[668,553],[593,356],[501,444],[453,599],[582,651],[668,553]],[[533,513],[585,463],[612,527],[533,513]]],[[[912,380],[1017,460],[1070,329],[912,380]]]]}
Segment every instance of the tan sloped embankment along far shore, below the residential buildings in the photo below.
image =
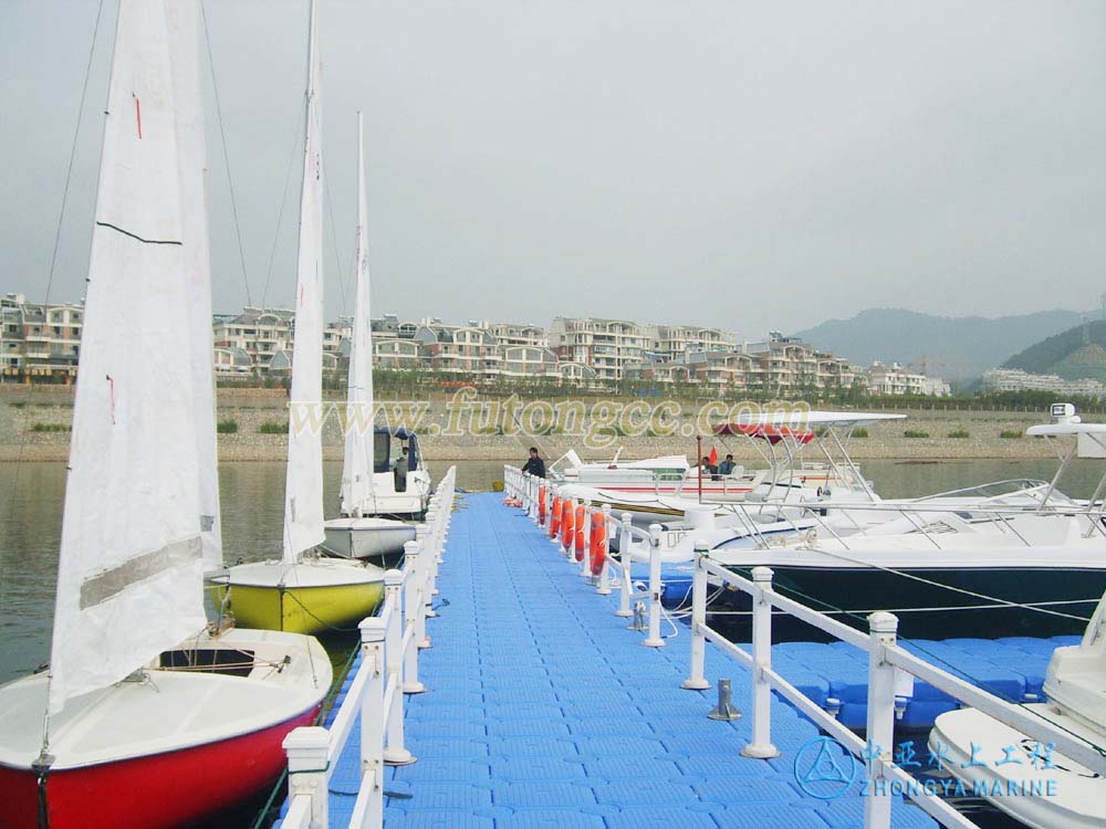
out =
{"type": "MultiPolygon", "coordinates": [[[[69,460],[70,426],[73,413],[71,387],[4,387],[0,386],[0,463],[64,462],[69,460]]],[[[332,401],[327,401],[332,402],[332,401]]],[[[338,402],[338,401],[333,401],[338,402]]],[[[492,405],[497,403],[492,399],[492,405]]],[[[503,428],[500,421],[477,418],[467,433],[450,433],[451,410],[448,400],[419,401],[425,405],[420,421],[419,442],[428,461],[502,461],[524,458],[530,445],[538,447],[547,461],[568,450],[586,460],[611,459],[620,449],[620,458],[639,460],[666,454],[696,453],[695,418],[703,401],[686,401],[677,420],[679,437],[651,433],[619,437],[617,427],[606,430],[589,417],[573,429],[573,434],[552,432],[528,436],[521,429],[503,428]],[[520,432],[520,433],[515,433],[520,432]],[[591,440],[584,436],[589,436],[591,440]],[[690,437],[687,437],[690,436],[690,437]]],[[[394,401],[382,400],[382,410],[394,401]]],[[[877,412],[902,413],[906,420],[874,423],[866,428],[868,437],[852,438],[847,450],[857,461],[964,461],[964,460],[1052,460],[1053,444],[1043,439],[1027,438],[1025,429],[1047,422],[1045,412],[989,411],[957,409],[876,409],[877,412]],[[905,432],[925,437],[906,437],[905,432]],[[1016,438],[1002,437],[1003,433],[1016,438]],[[952,434],[967,437],[950,437],[952,434]]],[[[218,418],[232,432],[219,434],[221,462],[283,462],[286,459],[288,398],[282,390],[221,389],[218,395],[218,418]],[[262,431],[263,429],[270,431],[262,431]],[[275,433],[271,430],[275,429],[275,433]]],[[[507,421],[507,418],[502,418],[507,421]]],[[[609,422],[609,421],[608,421],[609,422]]],[[[699,430],[701,431],[701,424],[699,430]]],[[[337,418],[323,423],[323,458],[340,461],[343,455],[343,433],[337,418]]],[[[742,437],[706,434],[703,452],[713,445],[720,455],[732,453],[745,465],[763,463],[772,451],[762,441],[742,437]]],[[[833,441],[827,449],[836,452],[833,441]]],[[[802,453],[805,460],[824,460],[822,449],[811,443],[802,453]]]]}

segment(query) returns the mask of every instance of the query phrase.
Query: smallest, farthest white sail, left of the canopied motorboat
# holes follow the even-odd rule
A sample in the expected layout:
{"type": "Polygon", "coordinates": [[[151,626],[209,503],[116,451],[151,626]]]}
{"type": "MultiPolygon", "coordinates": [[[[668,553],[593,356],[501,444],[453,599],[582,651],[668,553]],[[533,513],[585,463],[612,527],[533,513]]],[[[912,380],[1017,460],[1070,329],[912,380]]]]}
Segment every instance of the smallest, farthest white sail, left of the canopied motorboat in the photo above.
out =
{"type": "Polygon", "coordinates": [[[357,515],[373,496],[373,314],[368,277],[368,204],[365,196],[365,140],[357,113],[357,250],[354,267],[357,298],[349,338],[348,403],[345,463],[342,466],[342,512],[357,515]]]}

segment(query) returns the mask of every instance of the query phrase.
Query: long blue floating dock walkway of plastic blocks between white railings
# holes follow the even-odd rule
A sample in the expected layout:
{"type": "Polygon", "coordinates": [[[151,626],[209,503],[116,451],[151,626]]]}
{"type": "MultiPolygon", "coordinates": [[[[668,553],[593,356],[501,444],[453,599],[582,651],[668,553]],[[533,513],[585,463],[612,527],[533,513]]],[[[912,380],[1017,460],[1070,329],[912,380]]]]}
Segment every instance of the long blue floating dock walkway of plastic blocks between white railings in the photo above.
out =
{"type": "MultiPolygon", "coordinates": [[[[782,756],[742,757],[749,718],[706,714],[713,691],[679,688],[691,638],[661,649],[614,616],[577,570],[502,496],[472,494],[453,515],[441,566],[434,647],[420,654],[428,693],[406,697],[406,744],[389,768],[385,825],[403,829],[855,829],[859,785],[834,800],[804,795],[796,753],[818,735],[773,699],[782,756]],[[448,602],[448,604],[447,604],[448,602]],[[404,795],[406,797],[396,797],[404,795]]],[[[671,633],[669,629],[666,633],[671,633]]],[[[711,652],[708,678],[748,673],[711,652]]],[[[356,726],[331,778],[331,825],[345,827],[361,778],[356,726]]],[[[894,806],[893,825],[937,823],[894,806]]]]}

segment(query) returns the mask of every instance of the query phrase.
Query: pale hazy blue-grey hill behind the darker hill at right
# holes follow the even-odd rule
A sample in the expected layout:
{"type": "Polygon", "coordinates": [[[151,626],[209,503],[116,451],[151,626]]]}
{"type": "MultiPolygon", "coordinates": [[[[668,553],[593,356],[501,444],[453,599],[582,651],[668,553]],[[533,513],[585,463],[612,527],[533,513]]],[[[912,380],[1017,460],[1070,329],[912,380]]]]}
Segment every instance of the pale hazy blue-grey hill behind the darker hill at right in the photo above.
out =
{"type": "MultiPolygon", "coordinates": [[[[830,319],[795,334],[859,365],[898,361],[946,379],[979,377],[1042,337],[1078,325],[1074,311],[1044,311],[988,319],[947,317],[901,308],[870,308],[851,319],[830,319]]],[[[1082,344],[1082,342],[1081,342],[1082,344]]],[[[1065,355],[1067,351],[1065,351],[1065,355]]]]}

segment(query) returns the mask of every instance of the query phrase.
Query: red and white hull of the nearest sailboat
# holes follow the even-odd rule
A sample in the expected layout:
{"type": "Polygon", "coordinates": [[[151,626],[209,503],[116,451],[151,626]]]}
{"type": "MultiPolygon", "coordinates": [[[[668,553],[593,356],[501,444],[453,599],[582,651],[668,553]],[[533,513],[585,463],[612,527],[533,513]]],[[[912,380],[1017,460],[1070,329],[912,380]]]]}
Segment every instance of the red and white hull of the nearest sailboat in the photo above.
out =
{"type": "MultiPolygon", "coordinates": [[[[314,720],[331,681],[313,638],[230,630],[71,699],[51,718],[50,826],[178,826],[233,805],[279,773],[283,736],[314,720]]],[[[36,826],[46,684],[43,673],[0,688],[0,826],[36,826]]]]}

